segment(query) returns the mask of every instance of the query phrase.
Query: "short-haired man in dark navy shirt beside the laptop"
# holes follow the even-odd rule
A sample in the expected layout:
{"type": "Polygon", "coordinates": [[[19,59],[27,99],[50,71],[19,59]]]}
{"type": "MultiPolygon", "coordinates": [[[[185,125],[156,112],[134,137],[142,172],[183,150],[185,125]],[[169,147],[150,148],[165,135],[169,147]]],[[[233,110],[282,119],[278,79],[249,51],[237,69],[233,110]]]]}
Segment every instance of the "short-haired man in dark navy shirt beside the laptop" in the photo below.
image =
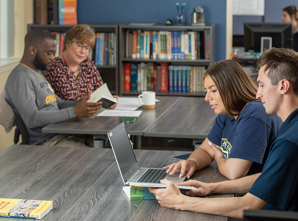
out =
{"type": "MultiPolygon", "coordinates": [[[[283,125],[262,173],[219,183],[189,180],[177,185],[195,186],[188,195],[236,193],[243,197],[190,198],[164,179],[166,189],[150,188],[161,206],[243,219],[243,210],[276,209],[298,211],[298,53],[286,48],[265,51],[257,63],[257,98],[266,113],[277,114],[283,125]]],[[[252,137],[253,139],[253,137],[252,137]]],[[[256,141],[257,145],[257,141],[256,141]]],[[[210,145],[215,151],[215,145],[210,145]]]]}

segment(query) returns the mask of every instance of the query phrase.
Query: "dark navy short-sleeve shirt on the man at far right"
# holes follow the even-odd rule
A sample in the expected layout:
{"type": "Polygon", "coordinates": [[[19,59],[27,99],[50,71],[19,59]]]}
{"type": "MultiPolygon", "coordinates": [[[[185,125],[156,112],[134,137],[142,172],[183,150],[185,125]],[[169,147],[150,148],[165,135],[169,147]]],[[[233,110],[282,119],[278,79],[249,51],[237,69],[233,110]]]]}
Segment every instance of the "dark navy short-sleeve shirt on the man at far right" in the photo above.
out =
{"type": "Polygon", "coordinates": [[[249,193],[266,201],[264,209],[298,211],[298,109],[283,123],[262,174],[249,193]]]}

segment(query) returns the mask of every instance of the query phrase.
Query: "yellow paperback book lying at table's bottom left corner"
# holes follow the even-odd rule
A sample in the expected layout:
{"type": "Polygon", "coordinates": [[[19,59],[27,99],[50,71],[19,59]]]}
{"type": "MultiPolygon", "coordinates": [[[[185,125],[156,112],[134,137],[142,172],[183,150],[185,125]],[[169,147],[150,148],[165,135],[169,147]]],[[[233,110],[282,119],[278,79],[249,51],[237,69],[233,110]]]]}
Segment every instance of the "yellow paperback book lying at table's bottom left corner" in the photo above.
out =
{"type": "Polygon", "coordinates": [[[40,220],[53,209],[53,201],[0,198],[0,217],[40,220]]]}

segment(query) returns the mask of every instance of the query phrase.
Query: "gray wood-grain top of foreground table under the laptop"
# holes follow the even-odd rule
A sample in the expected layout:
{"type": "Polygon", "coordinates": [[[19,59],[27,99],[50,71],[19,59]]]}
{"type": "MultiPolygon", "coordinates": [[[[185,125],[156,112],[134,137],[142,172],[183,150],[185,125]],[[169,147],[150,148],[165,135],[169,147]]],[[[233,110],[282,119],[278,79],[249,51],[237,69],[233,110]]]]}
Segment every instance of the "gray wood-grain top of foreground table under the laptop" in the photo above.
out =
{"type": "MultiPolygon", "coordinates": [[[[134,152],[139,166],[149,167],[163,167],[175,162],[173,156],[187,153],[134,152]]],[[[44,221],[227,220],[226,217],[163,208],[157,200],[128,200],[109,148],[13,145],[0,153],[0,170],[1,198],[53,201],[53,210],[42,218],[44,221]]],[[[227,180],[216,164],[195,172],[192,178],[204,182],[227,180]]],[[[7,220],[12,219],[0,217],[0,221],[7,220]]]]}

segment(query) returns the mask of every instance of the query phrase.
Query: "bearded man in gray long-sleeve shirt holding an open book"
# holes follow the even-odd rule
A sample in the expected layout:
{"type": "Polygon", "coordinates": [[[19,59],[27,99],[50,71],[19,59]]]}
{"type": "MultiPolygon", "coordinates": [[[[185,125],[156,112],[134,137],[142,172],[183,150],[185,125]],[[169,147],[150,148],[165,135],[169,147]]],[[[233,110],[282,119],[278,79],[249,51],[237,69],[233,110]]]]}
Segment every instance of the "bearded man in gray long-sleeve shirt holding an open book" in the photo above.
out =
{"type": "Polygon", "coordinates": [[[74,117],[90,117],[101,102],[87,103],[90,94],[80,101],[64,101],[55,95],[41,73],[49,68],[56,51],[56,40],[45,29],[33,29],[25,36],[25,50],[20,64],[5,84],[5,99],[20,114],[27,129],[29,143],[42,145],[56,134],[45,134],[41,128],[74,117]]]}

